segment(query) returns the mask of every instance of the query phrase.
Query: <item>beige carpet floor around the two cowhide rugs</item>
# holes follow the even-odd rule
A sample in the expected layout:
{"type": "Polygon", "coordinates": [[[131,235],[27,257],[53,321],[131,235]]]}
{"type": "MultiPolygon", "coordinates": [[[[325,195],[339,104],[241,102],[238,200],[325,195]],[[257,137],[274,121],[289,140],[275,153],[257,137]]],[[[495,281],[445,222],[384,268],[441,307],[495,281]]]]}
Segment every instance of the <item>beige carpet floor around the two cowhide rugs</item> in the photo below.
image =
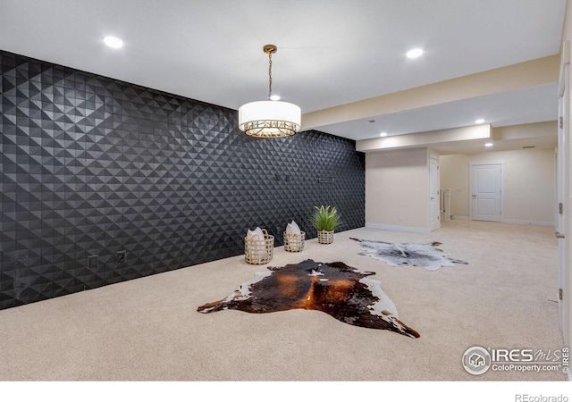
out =
{"type": "Polygon", "coordinates": [[[361,228],[272,265],[342,261],[382,281],[400,320],[421,334],[354,327],[315,311],[197,307],[265,266],[236,256],[0,311],[2,381],[563,381],[556,373],[467,373],[467,348],[562,348],[553,228],[448,222],[420,234],[361,228]],[[468,265],[429,272],[358,255],[349,237],[442,242],[468,265]]]}

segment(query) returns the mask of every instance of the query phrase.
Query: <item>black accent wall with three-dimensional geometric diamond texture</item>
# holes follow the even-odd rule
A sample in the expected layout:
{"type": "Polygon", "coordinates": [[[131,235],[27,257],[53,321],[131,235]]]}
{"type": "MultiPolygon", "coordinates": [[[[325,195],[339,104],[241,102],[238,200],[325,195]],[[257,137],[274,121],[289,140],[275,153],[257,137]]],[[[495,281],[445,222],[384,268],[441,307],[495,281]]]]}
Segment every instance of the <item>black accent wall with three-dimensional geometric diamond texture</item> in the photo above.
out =
{"type": "Polygon", "coordinates": [[[314,205],[365,224],[365,158],[318,131],[0,51],[0,309],[282,245],[314,205]],[[121,260],[116,254],[125,251],[121,260]]]}

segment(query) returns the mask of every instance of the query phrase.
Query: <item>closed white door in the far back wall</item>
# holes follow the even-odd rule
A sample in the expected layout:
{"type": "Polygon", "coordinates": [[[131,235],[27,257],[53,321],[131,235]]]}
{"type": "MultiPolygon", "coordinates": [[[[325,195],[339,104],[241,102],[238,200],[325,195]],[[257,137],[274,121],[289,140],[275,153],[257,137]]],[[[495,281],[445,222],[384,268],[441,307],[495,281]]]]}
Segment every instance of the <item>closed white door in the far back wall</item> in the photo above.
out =
{"type": "Polygon", "coordinates": [[[502,164],[471,166],[471,219],[501,222],[502,164]]]}

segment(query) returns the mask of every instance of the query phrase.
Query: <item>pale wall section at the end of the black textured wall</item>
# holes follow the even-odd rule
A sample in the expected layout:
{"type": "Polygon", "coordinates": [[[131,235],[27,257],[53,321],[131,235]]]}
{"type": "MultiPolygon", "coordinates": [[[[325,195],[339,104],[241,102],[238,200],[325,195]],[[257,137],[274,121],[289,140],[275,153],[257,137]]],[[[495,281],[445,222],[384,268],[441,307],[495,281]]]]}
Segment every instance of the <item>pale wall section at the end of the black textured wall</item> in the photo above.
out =
{"type": "Polygon", "coordinates": [[[428,231],[427,148],[366,154],[366,225],[428,231]]]}

